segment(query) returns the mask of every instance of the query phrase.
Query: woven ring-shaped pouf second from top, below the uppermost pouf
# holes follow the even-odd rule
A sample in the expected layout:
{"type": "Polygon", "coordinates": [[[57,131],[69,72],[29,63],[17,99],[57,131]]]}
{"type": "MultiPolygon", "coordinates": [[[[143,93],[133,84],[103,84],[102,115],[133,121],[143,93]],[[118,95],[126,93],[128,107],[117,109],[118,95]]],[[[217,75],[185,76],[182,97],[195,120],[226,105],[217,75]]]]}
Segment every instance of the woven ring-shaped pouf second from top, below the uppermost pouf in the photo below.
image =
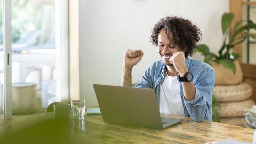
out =
{"type": "Polygon", "coordinates": [[[249,98],[239,102],[220,103],[220,117],[241,117],[245,108],[252,108],[255,102],[249,98]]]}

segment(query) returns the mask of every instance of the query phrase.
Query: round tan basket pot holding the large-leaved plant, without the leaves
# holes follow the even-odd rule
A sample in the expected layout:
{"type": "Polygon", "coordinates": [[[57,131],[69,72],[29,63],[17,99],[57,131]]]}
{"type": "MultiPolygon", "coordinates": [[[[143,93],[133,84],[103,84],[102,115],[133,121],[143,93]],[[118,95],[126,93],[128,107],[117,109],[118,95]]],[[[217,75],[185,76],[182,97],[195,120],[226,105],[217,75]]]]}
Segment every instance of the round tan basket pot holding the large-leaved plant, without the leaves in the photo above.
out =
{"type": "Polygon", "coordinates": [[[215,83],[217,85],[239,84],[243,80],[243,73],[238,60],[233,62],[236,66],[236,74],[231,69],[225,68],[220,63],[212,62],[211,66],[215,71],[215,83]]]}

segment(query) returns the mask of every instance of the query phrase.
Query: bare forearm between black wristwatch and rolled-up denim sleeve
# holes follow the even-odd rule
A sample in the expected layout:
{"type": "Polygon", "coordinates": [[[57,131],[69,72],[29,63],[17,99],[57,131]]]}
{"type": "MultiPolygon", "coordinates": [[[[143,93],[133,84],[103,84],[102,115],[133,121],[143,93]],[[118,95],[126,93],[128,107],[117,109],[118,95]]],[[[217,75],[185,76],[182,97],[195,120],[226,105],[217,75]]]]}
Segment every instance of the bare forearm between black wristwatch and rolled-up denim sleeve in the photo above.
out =
{"type": "Polygon", "coordinates": [[[182,88],[183,88],[185,100],[191,101],[195,99],[196,87],[193,84],[193,81],[182,82],[182,88]]]}

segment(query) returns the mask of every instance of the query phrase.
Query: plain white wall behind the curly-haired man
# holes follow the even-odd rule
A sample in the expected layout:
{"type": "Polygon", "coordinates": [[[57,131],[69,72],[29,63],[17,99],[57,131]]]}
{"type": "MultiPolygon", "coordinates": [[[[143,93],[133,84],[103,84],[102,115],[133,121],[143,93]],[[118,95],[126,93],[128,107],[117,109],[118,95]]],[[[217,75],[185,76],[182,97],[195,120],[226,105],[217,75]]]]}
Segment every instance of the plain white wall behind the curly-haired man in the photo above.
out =
{"type": "MultiPolygon", "coordinates": [[[[143,59],[133,67],[138,82],[148,66],[160,60],[149,42],[151,29],[167,15],[187,18],[201,29],[201,44],[217,52],[221,46],[221,16],[228,0],[80,0],[80,90],[87,106],[98,105],[93,84],[119,85],[126,49],[141,49],[143,59]]],[[[203,60],[200,54],[193,56],[203,60]]]]}

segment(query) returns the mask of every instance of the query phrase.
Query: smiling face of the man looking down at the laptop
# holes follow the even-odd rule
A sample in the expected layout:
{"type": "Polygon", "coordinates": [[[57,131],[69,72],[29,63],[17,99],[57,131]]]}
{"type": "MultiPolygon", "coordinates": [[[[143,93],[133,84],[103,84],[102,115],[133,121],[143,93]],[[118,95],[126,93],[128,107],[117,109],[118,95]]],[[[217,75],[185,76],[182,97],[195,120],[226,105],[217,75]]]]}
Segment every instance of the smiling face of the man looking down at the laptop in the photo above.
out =
{"type": "Polygon", "coordinates": [[[160,30],[157,41],[157,49],[160,57],[162,58],[165,65],[171,66],[172,64],[169,62],[169,59],[174,52],[180,52],[180,48],[176,44],[174,44],[174,40],[171,34],[169,41],[164,29],[160,30]]]}

